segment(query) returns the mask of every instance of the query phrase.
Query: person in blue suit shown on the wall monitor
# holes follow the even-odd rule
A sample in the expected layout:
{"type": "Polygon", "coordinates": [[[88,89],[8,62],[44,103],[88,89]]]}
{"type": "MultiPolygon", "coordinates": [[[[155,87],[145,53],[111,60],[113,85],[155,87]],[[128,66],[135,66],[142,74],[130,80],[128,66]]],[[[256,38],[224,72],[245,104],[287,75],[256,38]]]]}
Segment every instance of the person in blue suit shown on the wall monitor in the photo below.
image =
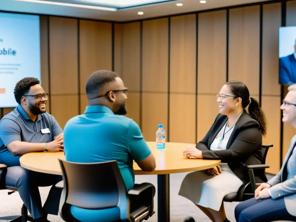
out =
{"type": "Polygon", "coordinates": [[[287,85],[296,83],[296,41],[294,52],[279,59],[279,83],[287,85]]]}

